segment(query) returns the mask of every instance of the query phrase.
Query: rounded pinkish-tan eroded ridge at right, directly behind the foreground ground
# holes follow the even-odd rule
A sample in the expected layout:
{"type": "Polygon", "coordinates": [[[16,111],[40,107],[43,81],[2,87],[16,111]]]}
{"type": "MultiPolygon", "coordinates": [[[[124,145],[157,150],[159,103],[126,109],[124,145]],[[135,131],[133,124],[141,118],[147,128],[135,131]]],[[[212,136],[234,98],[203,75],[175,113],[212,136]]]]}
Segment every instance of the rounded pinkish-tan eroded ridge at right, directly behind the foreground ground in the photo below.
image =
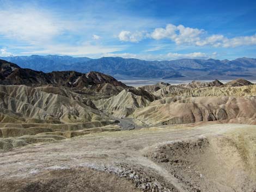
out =
{"type": "Polygon", "coordinates": [[[136,109],[132,117],[154,125],[201,121],[256,124],[256,97],[176,97],[162,103],[136,109]]]}

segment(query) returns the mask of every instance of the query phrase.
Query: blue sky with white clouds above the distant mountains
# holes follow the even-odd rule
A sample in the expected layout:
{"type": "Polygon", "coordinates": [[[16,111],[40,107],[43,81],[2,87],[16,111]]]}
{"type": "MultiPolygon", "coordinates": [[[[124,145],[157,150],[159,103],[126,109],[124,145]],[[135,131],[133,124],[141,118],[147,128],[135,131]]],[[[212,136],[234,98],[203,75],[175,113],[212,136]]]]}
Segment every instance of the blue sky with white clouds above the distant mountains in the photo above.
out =
{"type": "Polygon", "coordinates": [[[256,1],[0,0],[0,57],[256,58],[256,1]]]}

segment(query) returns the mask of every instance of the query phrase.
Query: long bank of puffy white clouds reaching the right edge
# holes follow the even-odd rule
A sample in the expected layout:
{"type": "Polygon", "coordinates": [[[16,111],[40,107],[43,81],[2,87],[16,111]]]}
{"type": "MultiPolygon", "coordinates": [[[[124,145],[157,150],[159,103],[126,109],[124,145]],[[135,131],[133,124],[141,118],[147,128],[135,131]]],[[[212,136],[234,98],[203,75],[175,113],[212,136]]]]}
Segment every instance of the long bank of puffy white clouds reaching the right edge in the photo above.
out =
{"type": "Polygon", "coordinates": [[[138,42],[145,38],[155,40],[170,39],[177,45],[214,46],[214,47],[237,47],[256,45],[256,34],[252,36],[237,36],[227,38],[224,35],[214,34],[207,36],[204,29],[184,27],[181,24],[175,26],[167,24],[166,28],[155,28],[153,32],[146,33],[122,31],[119,34],[121,41],[138,42]]]}

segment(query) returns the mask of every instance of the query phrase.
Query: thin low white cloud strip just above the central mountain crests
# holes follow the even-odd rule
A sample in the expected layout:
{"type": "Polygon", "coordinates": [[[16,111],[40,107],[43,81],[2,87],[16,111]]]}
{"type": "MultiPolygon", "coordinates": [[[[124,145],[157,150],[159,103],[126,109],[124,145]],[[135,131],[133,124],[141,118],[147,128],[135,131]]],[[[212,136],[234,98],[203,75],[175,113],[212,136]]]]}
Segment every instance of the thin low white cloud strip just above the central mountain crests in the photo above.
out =
{"type": "Polygon", "coordinates": [[[132,54],[132,53],[106,53],[103,54],[103,57],[123,57],[123,58],[135,58],[142,60],[174,60],[174,59],[209,59],[215,58],[216,52],[212,54],[206,54],[202,52],[194,52],[194,53],[167,53],[167,54],[132,54]]]}

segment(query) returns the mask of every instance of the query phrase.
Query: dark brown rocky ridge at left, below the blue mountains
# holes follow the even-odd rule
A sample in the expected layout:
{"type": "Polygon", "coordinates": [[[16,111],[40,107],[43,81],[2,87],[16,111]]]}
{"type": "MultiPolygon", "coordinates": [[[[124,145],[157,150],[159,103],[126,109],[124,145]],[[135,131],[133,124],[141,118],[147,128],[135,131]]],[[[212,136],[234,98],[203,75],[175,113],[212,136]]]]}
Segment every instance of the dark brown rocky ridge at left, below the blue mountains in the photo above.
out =
{"type": "Polygon", "coordinates": [[[44,73],[31,69],[22,69],[16,64],[0,60],[0,84],[27,86],[65,86],[75,89],[90,89],[100,92],[105,86],[128,88],[117,79],[100,72],[79,73],[76,71],[53,71],[44,73]]]}

